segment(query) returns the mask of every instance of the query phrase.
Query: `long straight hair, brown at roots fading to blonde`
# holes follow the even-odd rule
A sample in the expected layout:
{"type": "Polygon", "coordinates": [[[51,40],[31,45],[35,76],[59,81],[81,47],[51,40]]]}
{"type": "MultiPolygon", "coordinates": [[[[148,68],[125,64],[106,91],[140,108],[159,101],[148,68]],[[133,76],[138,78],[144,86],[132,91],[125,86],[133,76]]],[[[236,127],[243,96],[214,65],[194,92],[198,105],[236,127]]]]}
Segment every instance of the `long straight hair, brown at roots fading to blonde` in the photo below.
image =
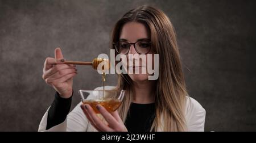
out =
{"type": "MultiPolygon", "coordinates": [[[[115,24],[112,41],[115,43],[124,24],[138,22],[150,32],[151,46],[159,54],[159,78],[155,87],[156,116],[151,131],[187,131],[185,122],[185,100],[187,90],[181,69],[176,35],[170,19],[163,11],[151,6],[140,6],[128,11],[115,24]]],[[[114,46],[112,45],[112,49],[114,46]]],[[[117,53],[116,53],[117,54],[117,53]]],[[[127,74],[118,75],[117,89],[125,89],[126,95],[118,112],[125,122],[133,98],[133,81],[127,74]]]]}

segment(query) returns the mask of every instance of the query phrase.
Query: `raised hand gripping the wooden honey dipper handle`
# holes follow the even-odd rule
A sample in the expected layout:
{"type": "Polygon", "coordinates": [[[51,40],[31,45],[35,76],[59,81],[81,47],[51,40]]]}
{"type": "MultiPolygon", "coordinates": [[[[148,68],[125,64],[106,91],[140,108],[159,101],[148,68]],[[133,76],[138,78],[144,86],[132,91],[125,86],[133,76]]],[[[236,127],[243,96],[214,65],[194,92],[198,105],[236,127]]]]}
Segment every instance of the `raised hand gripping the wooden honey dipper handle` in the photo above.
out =
{"type": "Polygon", "coordinates": [[[77,69],[74,65],[63,62],[63,54],[60,48],[56,48],[55,58],[48,57],[44,62],[42,77],[62,98],[70,98],[73,92],[73,77],[77,74],[77,69]]]}

